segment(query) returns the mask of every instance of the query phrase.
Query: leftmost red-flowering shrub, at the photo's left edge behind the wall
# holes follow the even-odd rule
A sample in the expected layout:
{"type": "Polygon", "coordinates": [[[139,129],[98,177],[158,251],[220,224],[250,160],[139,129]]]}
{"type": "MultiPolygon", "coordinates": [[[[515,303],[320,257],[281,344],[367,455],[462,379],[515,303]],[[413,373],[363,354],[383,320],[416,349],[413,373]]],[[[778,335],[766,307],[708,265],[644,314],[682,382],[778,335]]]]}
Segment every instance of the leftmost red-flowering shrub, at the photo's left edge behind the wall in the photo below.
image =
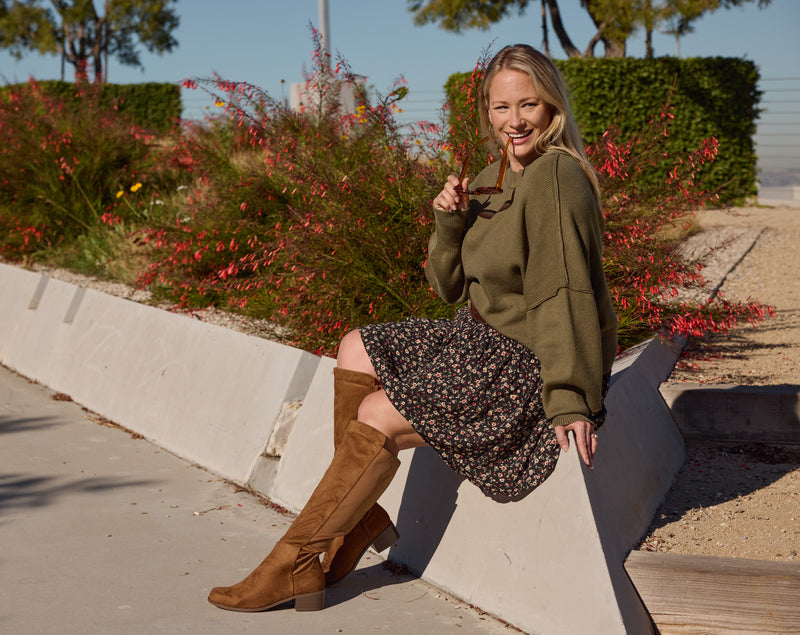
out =
{"type": "Polygon", "coordinates": [[[156,145],[152,134],[103,106],[98,86],[81,83],[75,92],[79,108],[33,80],[0,96],[0,255],[5,258],[61,249],[110,218],[136,220],[145,209],[142,197],[134,204],[120,192],[142,182],[150,187],[176,182],[160,166],[162,141],[156,145]]]}

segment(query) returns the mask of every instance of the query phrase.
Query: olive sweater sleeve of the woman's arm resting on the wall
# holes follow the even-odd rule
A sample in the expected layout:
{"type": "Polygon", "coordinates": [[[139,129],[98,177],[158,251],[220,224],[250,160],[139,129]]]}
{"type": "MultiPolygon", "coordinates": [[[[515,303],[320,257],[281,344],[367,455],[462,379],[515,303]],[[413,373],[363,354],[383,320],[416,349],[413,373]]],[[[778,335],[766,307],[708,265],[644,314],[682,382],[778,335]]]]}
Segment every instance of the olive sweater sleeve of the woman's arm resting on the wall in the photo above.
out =
{"type": "Polygon", "coordinates": [[[524,293],[531,348],[541,362],[545,414],[561,426],[602,409],[597,296],[605,292],[605,282],[596,289],[593,279],[602,273],[602,216],[575,161],[564,155],[542,159],[523,184],[529,246],[524,293]]]}

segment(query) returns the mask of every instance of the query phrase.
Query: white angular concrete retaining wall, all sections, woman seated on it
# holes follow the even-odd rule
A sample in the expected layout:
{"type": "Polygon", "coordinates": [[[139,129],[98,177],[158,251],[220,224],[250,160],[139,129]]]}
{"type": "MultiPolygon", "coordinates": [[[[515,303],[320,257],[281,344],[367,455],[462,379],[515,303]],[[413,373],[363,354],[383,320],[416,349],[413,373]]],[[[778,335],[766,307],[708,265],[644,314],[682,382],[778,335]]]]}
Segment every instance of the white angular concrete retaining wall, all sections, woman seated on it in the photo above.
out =
{"type": "MultiPolygon", "coordinates": [[[[333,360],[0,266],[2,361],[175,454],[299,510],[333,455],[333,360]],[[7,307],[7,308],[6,308],[7,307]]],[[[529,633],[643,634],[625,573],[683,442],[658,387],[680,346],[619,359],[595,469],[574,448],[521,501],[485,497],[429,448],[382,498],[389,552],[529,633]]]]}

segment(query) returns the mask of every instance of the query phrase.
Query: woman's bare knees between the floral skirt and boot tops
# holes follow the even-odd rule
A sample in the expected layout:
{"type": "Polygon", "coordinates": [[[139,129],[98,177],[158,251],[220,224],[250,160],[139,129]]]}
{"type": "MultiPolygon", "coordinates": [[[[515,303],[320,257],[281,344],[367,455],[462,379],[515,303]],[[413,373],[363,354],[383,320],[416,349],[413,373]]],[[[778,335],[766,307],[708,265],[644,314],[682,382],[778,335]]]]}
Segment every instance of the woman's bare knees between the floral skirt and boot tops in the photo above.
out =
{"type": "MultiPolygon", "coordinates": [[[[342,338],[336,363],[340,368],[357,370],[378,378],[367,355],[359,331],[350,331],[342,338]]],[[[358,409],[358,420],[381,431],[389,440],[386,449],[397,454],[400,450],[426,445],[425,440],[389,401],[383,390],[378,390],[364,399],[358,409]]]]}

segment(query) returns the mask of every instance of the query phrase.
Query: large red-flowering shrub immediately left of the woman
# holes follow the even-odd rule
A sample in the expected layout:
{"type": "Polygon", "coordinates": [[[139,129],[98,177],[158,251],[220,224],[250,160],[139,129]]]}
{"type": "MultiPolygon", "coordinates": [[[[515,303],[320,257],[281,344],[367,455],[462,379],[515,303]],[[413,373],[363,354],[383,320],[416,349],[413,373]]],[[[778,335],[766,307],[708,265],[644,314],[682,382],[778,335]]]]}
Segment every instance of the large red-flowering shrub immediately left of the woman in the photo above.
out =
{"type": "Polygon", "coordinates": [[[402,81],[374,105],[330,98],[357,85],[344,63],[318,60],[305,93],[320,101],[292,112],[247,84],[190,82],[225,104],[230,127],[210,122],[216,146],[208,127],[193,131],[206,187],[185,222],[146,232],[155,258],[140,283],[187,306],[271,317],[292,343],[327,353],[360,324],[449,314],[423,272],[431,192],[447,172],[437,130],[400,133],[402,81]]]}

